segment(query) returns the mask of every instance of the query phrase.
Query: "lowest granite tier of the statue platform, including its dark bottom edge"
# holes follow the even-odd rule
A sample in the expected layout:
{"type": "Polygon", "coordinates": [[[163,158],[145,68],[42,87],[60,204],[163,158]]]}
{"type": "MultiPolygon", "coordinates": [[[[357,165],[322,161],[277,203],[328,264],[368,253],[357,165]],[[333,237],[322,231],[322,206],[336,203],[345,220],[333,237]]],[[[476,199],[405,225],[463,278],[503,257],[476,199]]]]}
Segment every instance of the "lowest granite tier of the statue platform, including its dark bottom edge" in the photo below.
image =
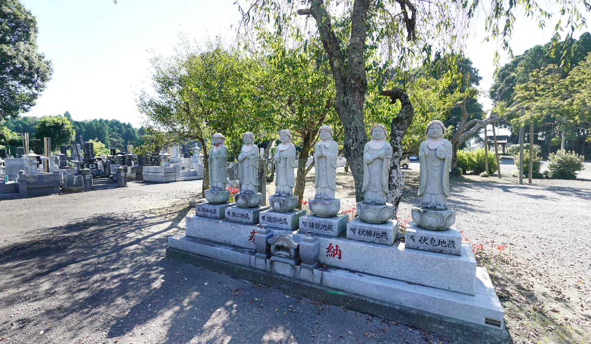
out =
{"type": "MultiPolygon", "coordinates": [[[[292,266],[281,261],[256,257],[254,249],[185,234],[169,237],[168,246],[167,256],[170,258],[419,327],[444,335],[457,343],[511,342],[505,330],[501,303],[483,268],[474,271],[475,293],[467,295],[360,271],[353,272],[346,268],[310,269],[292,266]]],[[[404,251],[403,243],[398,250],[404,251]]],[[[323,254],[324,250],[321,251],[321,255],[323,254]]],[[[417,266],[425,267],[421,263],[417,266]]]]}

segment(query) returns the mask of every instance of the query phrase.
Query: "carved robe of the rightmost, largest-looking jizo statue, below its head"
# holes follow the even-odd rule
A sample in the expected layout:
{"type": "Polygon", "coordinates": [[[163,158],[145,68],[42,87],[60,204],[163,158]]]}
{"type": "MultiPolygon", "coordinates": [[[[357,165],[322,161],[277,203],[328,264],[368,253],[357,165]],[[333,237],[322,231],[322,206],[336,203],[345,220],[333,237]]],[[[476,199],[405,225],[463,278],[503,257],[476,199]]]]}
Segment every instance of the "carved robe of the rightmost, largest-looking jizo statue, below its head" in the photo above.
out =
{"type": "Polygon", "coordinates": [[[437,145],[429,147],[427,141],[421,143],[418,150],[421,168],[418,195],[421,196],[421,207],[446,209],[447,198],[450,196],[449,172],[452,172],[452,143],[441,139],[437,145]],[[437,157],[438,151],[445,153],[444,159],[437,157]]]}

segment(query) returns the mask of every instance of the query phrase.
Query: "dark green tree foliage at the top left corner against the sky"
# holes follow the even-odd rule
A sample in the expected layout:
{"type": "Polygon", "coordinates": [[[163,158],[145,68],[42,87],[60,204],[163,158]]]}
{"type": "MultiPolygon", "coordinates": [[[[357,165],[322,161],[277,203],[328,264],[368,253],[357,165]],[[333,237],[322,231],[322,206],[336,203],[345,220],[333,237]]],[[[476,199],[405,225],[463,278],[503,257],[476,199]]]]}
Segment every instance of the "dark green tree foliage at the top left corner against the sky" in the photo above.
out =
{"type": "Polygon", "coordinates": [[[0,2],[0,122],[27,112],[51,78],[37,51],[37,21],[18,0],[0,2]]]}

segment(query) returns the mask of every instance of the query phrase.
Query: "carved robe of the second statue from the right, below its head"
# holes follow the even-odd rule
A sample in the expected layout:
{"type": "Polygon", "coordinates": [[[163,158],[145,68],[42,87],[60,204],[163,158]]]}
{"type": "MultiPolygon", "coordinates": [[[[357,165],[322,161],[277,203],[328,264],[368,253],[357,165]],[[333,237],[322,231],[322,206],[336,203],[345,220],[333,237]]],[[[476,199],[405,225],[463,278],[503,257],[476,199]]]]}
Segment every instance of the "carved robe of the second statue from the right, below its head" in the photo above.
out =
{"type": "Polygon", "coordinates": [[[384,146],[376,147],[376,142],[370,141],[365,144],[363,149],[363,188],[365,198],[363,202],[368,204],[385,204],[388,194],[388,173],[390,170],[390,160],[392,159],[392,146],[388,141],[384,141],[384,146]],[[369,165],[365,163],[366,158],[373,158],[384,152],[384,159],[375,158],[369,165]]]}

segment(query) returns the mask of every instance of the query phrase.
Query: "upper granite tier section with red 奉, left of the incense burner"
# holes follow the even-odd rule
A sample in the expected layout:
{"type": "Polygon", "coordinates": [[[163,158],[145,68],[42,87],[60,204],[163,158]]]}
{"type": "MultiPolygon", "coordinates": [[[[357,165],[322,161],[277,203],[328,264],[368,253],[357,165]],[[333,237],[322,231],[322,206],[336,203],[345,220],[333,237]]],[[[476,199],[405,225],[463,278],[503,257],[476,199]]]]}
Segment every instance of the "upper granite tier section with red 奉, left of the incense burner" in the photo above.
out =
{"type": "MultiPolygon", "coordinates": [[[[212,219],[197,215],[185,217],[185,233],[189,237],[216,241],[220,244],[255,249],[254,235],[258,225],[239,224],[225,219],[212,219]]],[[[275,235],[290,234],[291,231],[273,231],[275,235]]],[[[254,254],[254,251],[253,251],[254,254]]]]}

